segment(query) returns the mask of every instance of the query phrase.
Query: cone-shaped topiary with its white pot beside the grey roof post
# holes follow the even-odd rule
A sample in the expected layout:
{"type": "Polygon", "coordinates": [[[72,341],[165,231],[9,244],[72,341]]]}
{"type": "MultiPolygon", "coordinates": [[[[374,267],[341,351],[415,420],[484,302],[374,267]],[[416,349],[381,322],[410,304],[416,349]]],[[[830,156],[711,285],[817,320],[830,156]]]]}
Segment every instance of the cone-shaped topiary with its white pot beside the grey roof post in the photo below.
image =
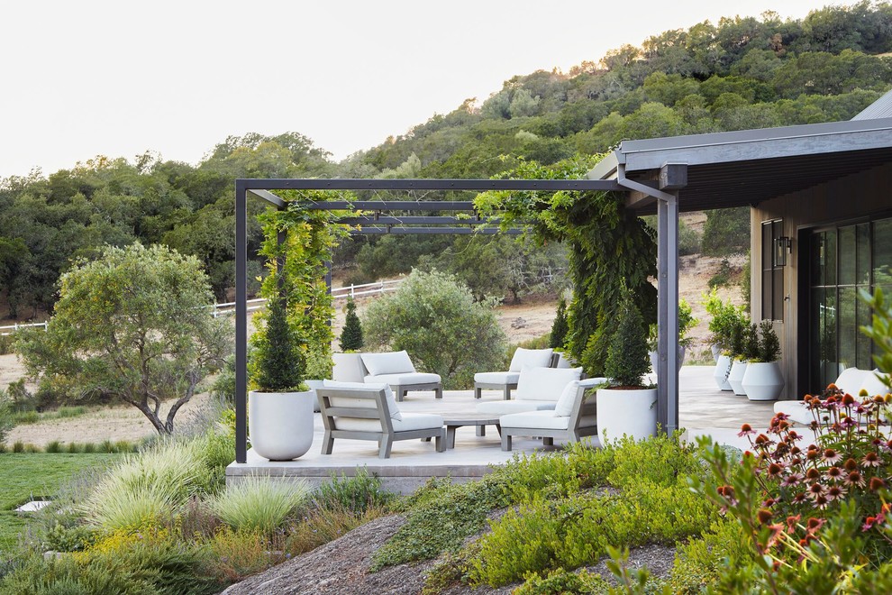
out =
{"type": "Polygon", "coordinates": [[[645,385],[648,371],[644,321],[628,292],[618,309],[605,362],[608,386],[597,390],[597,427],[602,443],[623,435],[642,440],[657,432],[657,389],[645,385]]]}

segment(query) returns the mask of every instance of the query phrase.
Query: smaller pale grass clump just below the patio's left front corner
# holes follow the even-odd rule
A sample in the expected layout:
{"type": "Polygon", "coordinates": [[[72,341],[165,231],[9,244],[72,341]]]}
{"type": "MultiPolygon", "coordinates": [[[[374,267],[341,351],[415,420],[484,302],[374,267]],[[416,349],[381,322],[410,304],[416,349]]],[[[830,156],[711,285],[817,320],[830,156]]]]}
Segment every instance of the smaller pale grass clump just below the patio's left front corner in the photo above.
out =
{"type": "Polygon", "coordinates": [[[236,531],[270,535],[309,494],[305,481],[270,481],[251,475],[214,496],[208,507],[236,531]]]}

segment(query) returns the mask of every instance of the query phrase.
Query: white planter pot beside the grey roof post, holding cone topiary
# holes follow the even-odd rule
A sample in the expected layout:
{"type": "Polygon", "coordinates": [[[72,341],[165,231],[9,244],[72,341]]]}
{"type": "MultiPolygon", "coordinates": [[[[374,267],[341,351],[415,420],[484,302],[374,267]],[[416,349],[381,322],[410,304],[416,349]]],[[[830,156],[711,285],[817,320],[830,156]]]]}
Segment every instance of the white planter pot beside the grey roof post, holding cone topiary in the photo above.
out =
{"type": "Polygon", "coordinates": [[[601,444],[623,435],[643,440],[657,433],[657,389],[598,389],[596,410],[601,444]]]}

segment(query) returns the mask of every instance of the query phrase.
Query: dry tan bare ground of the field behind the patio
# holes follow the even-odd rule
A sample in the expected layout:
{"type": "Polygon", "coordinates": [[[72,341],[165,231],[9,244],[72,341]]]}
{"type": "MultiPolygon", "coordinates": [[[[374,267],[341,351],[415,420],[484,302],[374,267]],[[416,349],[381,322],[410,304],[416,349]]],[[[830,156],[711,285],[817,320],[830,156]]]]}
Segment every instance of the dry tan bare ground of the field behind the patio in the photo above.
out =
{"type": "MultiPolygon", "coordinates": [[[[707,316],[700,304],[701,294],[708,287],[709,279],[715,275],[721,264],[721,258],[706,256],[683,256],[679,271],[679,296],[687,299],[691,305],[694,316],[700,323],[691,331],[695,338],[694,352],[688,357],[708,357],[704,353],[708,351],[705,337],[708,334],[707,316]]],[[[728,258],[732,270],[742,270],[745,257],[742,255],[728,258]]],[[[723,299],[731,298],[734,303],[741,303],[742,296],[738,286],[721,288],[719,295],[723,299]]],[[[369,300],[358,300],[358,309],[361,311],[369,300]]],[[[333,331],[337,337],[341,333],[343,325],[343,302],[336,304],[333,331]]],[[[505,330],[508,340],[512,343],[526,341],[542,336],[551,331],[551,323],[554,320],[556,302],[528,301],[518,305],[508,305],[498,308],[499,323],[505,330]]],[[[337,341],[335,341],[337,343],[337,341]]],[[[711,361],[711,359],[709,360],[711,361]]],[[[5,389],[11,382],[23,378],[25,375],[22,362],[14,354],[0,355],[0,389],[5,389]]],[[[33,384],[25,385],[29,390],[35,390],[33,384]]],[[[206,393],[201,393],[193,398],[192,402],[183,407],[177,414],[177,420],[186,419],[189,411],[196,410],[209,399],[206,393]]],[[[166,407],[164,408],[166,410],[166,407]]],[[[57,440],[61,443],[69,442],[102,442],[103,440],[129,440],[136,442],[152,435],[154,432],[149,421],[134,407],[128,405],[114,407],[91,407],[90,411],[80,417],[49,420],[38,424],[16,426],[7,436],[7,444],[22,441],[25,444],[45,445],[57,440]]]]}

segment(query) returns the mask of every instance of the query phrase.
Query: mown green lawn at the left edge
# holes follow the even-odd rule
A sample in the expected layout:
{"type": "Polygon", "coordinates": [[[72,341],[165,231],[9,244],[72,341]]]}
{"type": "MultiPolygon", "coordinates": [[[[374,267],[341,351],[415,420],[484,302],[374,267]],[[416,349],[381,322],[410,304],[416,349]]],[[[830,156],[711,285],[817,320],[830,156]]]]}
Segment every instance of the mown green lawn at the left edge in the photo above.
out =
{"type": "Polygon", "coordinates": [[[81,471],[101,469],[117,454],[0,454],[0,551],[9,550],[28,522],[15,508],[32,499],[51,499],[81,471]]]}

